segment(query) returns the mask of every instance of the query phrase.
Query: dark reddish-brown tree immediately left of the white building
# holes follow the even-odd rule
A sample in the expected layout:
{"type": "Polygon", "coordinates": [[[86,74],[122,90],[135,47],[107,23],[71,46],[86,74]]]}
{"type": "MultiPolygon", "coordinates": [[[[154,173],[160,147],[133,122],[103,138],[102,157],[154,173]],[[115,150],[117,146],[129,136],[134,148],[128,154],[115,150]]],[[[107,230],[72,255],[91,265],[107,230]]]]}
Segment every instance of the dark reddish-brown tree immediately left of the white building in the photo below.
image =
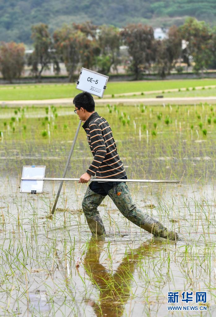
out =
{"type": "Polygon", "coordinates": [[[121,31],[121,36],[131,56],[129,69],[135,74],[135,79],[138,79],[155,60],[154,31],[148,25],[129,24],[121,31]]]}

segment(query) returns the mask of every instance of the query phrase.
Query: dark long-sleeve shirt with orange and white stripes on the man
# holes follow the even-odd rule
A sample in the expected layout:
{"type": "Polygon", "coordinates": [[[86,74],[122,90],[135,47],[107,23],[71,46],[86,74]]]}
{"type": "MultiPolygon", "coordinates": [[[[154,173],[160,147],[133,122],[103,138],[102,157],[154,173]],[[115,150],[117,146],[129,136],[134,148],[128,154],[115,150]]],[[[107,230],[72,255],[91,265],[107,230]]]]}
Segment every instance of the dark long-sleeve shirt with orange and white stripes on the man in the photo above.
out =
{"type": "Polygon", "coordinates": [[[96,178],[118,179],[126,176],[109,123],[94,112],[82,127],[94,156],[86,172],[96,178]]]}

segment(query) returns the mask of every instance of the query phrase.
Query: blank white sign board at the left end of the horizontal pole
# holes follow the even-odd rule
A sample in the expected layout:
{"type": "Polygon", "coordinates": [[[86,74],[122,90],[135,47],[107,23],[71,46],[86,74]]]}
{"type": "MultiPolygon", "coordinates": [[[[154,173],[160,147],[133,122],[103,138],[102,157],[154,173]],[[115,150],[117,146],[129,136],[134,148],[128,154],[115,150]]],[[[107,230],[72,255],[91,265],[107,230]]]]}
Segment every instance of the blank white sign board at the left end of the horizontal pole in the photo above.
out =
{"type": "Polygon", "coordinates": [[[46,166],[23,166],[22,178],[39,178],[39,180],[21,180],[20,192],[21,193],[31,193],[31,191],[36,191],[36,193],[43,192],[44,178],[46,166]]]}

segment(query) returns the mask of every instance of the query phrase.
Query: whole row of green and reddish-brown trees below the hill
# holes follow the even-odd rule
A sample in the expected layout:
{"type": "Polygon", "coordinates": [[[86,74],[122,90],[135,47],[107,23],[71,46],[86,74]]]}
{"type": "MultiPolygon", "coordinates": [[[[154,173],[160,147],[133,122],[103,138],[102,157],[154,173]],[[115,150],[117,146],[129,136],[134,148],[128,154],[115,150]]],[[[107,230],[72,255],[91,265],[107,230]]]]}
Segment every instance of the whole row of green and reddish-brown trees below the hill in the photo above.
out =
{"type": "Polygon", "coordinates": [[[21,76],[25,64],[38,81],[51,64],[55,74],[59,74],[60,62],[65,64],[69,81],[80,66],[109,74],[111,68],[117,70],[118,65],[124,64],[136,80],[146,72],[156,72],[164,78],[172,69],[181,71],[180,61],[188,66],[193,63],[195,72],[216,68],[216,29],[192,17],[180,27],[171,26],[161,40],[154,38],[152,27],[141,23],[128,24],[123,29],[98,27],[91,22],[73,23],[55,30],[53,35],[48,25],[40,23],[33,25],[31,31],[31,54],[25,54],[23,43],[0,44],[0,72],[10,82],[21,76]],[[120,54],[123,45],[126,55],[120,54]]]}

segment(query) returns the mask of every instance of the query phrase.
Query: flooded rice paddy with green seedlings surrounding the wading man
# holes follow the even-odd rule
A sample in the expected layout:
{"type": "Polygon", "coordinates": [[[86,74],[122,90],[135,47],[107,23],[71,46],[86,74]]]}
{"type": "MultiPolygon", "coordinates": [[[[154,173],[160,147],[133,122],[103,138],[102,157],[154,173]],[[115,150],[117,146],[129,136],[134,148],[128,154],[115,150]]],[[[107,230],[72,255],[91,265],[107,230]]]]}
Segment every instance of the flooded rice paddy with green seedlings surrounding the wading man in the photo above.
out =
{"type": "MultiPolygon", "coordinates": [[[[165,106],[165,105],[164,105],[165,106]]],[[[144,212],[179,233],[153,238],[124,218],[109,197],[98,208],[105,238],[92,238],[81,209],[87,185],[58,182],[20,194],[23,165],[62,177],[79,119],[73,107],[0,109],[1,316],[214,316],[216,308],[216,106],[96,107],[113,130],[128,183],[144,212]],[[183,292],[193,301],[181,301],[183,292]],[[168,304],[168,292],[179,303],[168,304]],[[195,302],[206,292],[206,303],[195,302]],[[171,306],[206,310],[168,311],[171,306]]],[[[92,161],[80,128],[67,177],[92,161]]]]}

